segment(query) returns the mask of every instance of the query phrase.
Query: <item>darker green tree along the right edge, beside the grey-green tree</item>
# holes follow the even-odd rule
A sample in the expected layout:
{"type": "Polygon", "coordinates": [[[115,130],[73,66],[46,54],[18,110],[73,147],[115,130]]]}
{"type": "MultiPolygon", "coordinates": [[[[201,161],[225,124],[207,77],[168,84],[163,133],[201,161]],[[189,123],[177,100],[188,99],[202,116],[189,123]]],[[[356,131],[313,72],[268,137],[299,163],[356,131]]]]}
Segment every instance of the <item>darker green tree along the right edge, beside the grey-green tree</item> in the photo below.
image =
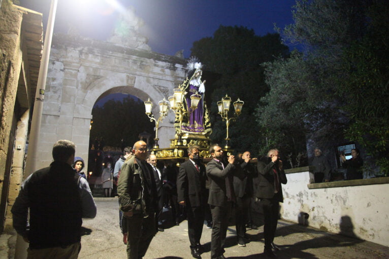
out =
{"type": "Polygon", "coordinates": [[[345,51],[348,76],[338,90],[352,100],[344,106],[351,120],[346,136],[364,146],[385,175],[389,172],[388,13],[385,1],[374,1],[367,9],[367,32],[345,51]]]}

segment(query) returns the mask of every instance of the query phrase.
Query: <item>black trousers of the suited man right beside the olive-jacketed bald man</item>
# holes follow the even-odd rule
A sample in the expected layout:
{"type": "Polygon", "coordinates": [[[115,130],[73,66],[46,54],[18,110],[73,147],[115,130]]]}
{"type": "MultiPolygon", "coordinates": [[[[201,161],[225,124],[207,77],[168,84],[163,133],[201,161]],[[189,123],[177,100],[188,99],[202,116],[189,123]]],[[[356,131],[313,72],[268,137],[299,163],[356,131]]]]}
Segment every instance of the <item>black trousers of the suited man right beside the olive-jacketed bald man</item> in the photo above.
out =
{"type": "Polygon", "coordinates": [[[190,247],[195,248],[196,244],[200,244],[201,234],[203,233],[204,210],[202,207],[187,206],[186,216],[190,247]]]}

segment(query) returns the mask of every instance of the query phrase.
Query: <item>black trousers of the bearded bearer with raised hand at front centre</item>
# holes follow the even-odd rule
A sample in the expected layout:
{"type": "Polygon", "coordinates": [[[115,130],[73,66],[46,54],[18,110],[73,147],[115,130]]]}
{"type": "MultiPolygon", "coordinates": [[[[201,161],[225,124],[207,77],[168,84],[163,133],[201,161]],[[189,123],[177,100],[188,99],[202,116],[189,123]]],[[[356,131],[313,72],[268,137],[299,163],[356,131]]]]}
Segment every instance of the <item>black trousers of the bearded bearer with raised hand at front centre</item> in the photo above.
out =
{"type": "Polygon", "coordinates": [[[226,207],[211,205],[211,258],[217,258],[224,253],[225,236],[227,235],[232,206],[232,202],[228,202],[228,205],[226,207]]]}

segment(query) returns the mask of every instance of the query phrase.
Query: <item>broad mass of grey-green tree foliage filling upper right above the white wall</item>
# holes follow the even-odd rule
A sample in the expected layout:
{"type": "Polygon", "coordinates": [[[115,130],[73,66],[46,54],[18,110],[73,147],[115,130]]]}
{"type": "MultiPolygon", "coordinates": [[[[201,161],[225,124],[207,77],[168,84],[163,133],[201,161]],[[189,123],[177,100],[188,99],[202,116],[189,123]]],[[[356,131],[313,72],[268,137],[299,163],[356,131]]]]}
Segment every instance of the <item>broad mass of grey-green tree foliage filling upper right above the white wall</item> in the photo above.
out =
{"type": "Polygon", "coordinates": [[[372,106],[387,98],[385,11],[383,0],[296,3],[295,23],[282,35],[291,44],[302,44],[303,51],[265,64],[270,91],[261,99],[265,105],[257,107],[265,110],[257,121],[282,133],[276,143],[291,143],[298,129],[325,149],[347,137],[377,159],[386,156],[380,163],[384,169],[388,108],[372,106]]]}

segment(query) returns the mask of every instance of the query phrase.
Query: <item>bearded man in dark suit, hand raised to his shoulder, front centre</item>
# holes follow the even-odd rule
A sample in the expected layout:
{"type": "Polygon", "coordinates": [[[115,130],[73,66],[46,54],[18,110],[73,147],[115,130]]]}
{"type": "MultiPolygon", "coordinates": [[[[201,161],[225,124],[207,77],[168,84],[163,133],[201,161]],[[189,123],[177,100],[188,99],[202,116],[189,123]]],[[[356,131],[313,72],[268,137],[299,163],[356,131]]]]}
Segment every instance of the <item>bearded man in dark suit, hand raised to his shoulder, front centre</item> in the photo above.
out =
{"type": "Polygon", "coordinates": [[[207,176],[210,179],[208,204],[212,213],[211,258],[222,259],[225,258],[225,236],[235,202],[233,178],[243,173],[235,170],[235,156],[229,156],[226,164],[222,162],[224,153],[218,144],[213,144],[209,153],[213,158],[207,164],[207,176]]]}

